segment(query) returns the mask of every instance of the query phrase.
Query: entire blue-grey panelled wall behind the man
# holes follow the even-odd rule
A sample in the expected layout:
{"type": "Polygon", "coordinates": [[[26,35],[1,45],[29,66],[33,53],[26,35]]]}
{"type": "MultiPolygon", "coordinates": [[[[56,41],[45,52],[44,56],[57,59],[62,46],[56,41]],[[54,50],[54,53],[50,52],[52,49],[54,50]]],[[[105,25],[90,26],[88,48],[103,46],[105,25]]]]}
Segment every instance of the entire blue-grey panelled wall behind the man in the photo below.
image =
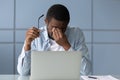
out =
{"type": "Polygon", "coordinates": [[[69,9],[70,26],[83,30],[93,74],[120,74],[120,0],[0,0],[0,74],[17,74],[26,30],[55,3],[69,9]]]}

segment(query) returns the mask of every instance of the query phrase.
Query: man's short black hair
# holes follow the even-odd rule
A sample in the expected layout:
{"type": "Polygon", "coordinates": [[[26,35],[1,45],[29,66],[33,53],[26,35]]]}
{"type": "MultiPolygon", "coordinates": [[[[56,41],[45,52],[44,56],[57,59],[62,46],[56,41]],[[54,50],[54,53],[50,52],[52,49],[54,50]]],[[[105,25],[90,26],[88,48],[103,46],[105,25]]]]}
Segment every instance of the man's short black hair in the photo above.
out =
{"type": "Polygon", "coordinates": [[[50,20],[51,18],[55,18],[56,20],[66,21],[67,23],[69,23],[70,14],[68,9],[64,5],[54,4],[48,9],[46,18],[48,20],[50,20]]]}

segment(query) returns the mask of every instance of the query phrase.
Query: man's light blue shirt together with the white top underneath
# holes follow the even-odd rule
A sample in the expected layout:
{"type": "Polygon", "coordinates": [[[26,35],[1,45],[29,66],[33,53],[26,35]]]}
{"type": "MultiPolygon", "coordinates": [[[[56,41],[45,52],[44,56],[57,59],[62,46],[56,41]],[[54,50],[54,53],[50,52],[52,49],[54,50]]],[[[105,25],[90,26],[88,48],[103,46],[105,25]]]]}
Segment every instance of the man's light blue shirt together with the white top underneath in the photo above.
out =
{"type": "MultiPolygon", "coordinates": [[[[31,50],[25,51],[24,45],[21,54],[18,57],[17,70],[20,75],[30,75],[31,66],[31,51],[64,51],[62,46],[59,46],[54,40],[49,39],[46,26],[41,27],[43,30],[40,33],[40,37],[36,38],[31,43],[31,50]]],[[[81,61],[81,75],[91,74],[91,62],[89,59],[88,48],[85,45],[85,38],[83,32],[79,28],[68,27],[66,29],[65,35],[71,44],[68,51],[81,51],[82,61],[81,61]]]]}

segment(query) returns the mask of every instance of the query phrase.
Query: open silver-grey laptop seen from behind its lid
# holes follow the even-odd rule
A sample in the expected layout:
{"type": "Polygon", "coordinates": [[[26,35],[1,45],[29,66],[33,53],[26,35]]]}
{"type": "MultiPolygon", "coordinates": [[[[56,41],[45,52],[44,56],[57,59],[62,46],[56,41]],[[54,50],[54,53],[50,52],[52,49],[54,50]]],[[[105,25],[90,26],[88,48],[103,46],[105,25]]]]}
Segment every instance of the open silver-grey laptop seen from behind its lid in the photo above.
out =
{"type": "Polygon", "coordinates": [[[79,79],[80,51],[32,51],[31,80],[79,79]]]}

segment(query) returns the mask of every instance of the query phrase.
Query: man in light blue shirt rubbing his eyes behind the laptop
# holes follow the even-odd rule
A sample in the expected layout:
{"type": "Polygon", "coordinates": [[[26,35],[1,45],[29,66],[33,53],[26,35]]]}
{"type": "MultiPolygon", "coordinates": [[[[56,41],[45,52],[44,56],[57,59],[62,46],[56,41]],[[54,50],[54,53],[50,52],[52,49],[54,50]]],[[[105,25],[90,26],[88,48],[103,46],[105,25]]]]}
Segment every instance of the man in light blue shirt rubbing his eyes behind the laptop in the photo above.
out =
{"type": "Polygon", "coordinates": [[[83,57],[80,73],[90,74],[91,64],[83,33],[79,28],[68,27],[69,20],[68,9],[61,4],[55,4],[48,9],[46,26],[27,30],[25,43],[18,58],[17,70],[20,75],[30,75],[32,50],[81,51],[83,57]]]}

